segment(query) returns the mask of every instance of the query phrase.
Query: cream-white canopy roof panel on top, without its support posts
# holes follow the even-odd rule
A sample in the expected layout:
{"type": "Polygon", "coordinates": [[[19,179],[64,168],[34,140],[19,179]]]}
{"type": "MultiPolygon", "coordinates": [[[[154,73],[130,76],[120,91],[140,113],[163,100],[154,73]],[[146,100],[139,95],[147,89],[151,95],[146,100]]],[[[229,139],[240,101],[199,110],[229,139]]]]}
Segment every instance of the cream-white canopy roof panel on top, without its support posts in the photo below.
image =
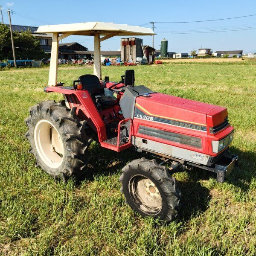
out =
{"type": "Polygon", "coordinates": [[[116,24],[112,22],[83,22],[60,25],[39,26],[38,33],[59,33],[72,32],[72,35],[107,35],[114,33],[120,36],[130,35],[156,35],[152,29],[140,26],[128,26],[126,24],[116,24]]]}

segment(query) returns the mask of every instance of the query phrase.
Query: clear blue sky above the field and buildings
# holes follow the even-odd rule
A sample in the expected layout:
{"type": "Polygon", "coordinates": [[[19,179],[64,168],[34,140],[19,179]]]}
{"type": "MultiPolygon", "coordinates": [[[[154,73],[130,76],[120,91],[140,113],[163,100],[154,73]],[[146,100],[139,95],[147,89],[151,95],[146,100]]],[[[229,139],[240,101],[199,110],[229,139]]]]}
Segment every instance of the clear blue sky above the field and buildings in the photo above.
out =
{"type": "MultiPolygon", "coordinates": [[[[30,26],[87,21],[141,25],[150,21],[195,21],[256,14],[255,0],[0,0],[0,5],[3,11],[10,8],[16,12],[12,15],[13,24],[30,26]]],[[[4,22],[8,23],[7,14],[4,12],[3,15],[4,22]]],[[[155,26],[158,35],[154,38],[154,47],[157,49],[160,48],[161,39],[166,37],[168,51],[190,52],[191,49],[205,47],[214,51],[241,49],[244,52],[256,52],[256,16],[204,23],[155,24],[155,26]],[[194,33],[220,29],[247,30],[194,33]],[[172,34],[177,32],[190,32],[190,34],[172,34]]],[[[142,38],[144,45],[152,44],[151,36],[142,38]]],[[[71,41],[77,41],[90,50],[93,49],[91,37],[70,36],[63,40],[63,42],[71,41]]],[[[102,42],[102,50],[116,49],[120,49],[118,37],[102,42]]]]}

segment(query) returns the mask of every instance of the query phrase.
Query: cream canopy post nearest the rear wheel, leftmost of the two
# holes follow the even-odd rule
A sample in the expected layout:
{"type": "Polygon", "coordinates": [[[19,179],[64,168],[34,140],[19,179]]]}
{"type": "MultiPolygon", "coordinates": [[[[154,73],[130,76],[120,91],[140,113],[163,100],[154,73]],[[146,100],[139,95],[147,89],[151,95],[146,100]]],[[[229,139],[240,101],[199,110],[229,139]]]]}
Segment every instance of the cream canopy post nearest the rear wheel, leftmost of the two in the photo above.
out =
{"type": "Polygon", "coordinates": [[[53,33],[48,86],[57,85],[57,73],[58,73],[58,33],[53,33]]]}

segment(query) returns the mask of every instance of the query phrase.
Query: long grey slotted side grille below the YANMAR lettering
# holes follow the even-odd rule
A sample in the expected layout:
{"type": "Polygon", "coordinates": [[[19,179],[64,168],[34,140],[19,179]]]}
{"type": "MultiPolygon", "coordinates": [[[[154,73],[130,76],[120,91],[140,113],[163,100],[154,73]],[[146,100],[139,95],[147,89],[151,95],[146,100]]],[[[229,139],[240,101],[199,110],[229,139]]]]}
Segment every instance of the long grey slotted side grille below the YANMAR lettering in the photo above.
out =
{"type": "Polygon", "coordinates": [[[201,148],[202,146],[201,138],[192,137],[184,134],[178,134],[171,131],[164,131],[157,128],[151,128],[151,127],[140,125],[139,133],[161,138],[164,140],[174,141],[174,142],[185,144],[185,145],[190,145],[196,148],[201,148]]]}

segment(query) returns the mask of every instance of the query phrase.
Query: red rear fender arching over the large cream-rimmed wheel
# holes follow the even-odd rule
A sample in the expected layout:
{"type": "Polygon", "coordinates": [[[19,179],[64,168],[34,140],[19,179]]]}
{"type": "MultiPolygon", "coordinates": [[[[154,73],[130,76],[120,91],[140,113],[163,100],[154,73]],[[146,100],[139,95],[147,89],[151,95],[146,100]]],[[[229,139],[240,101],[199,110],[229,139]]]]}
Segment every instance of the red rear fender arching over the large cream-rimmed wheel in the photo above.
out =
{"type": "Polygon", "coordinates": [[[107,140],[105,124],[87,90],[73,90],[73,87],[48,86],[44,88],[44,91],[47,93],[64,94],[70,108],[76,107],[78,112],[80,110],[84,113],[88,124],[98,134],[99,142],[107,140]]]}

